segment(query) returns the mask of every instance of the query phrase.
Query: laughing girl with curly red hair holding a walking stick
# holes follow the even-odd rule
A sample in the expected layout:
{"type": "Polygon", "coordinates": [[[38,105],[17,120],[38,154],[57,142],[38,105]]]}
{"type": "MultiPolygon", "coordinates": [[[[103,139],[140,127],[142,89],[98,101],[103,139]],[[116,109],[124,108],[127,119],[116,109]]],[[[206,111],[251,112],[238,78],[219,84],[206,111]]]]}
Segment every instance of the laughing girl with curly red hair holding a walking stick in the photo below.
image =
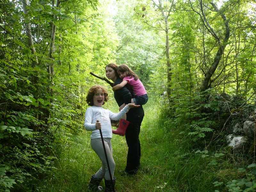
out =
{"type": "Polygon", "coordinates": [[[116,177],[114,177],[116,164],[113,159],[113,151],[112,151],[112,145],[111,145],[112,126],[111,126],[110,120],[119,120],[126,114],[126,112],[128,112],[130,108],[140,107],[140,106],[129,103],[119,113],[113,113],[108,109],[102,108],[102,105],[104,105],[106,101],[108,101],[108,93],[103,86],[94,85],[89,89],[88,94],[86,96],[86,102],[91,107],[87,108],[85,112],[84,128],[87,131],[92,131],[91,146],[101,160],[101,167],[98,170],[98,172],[92,175],[92,178],[90,180],[88,187],[92,191],[102,191],[103,188],[99,185],[100,185],[100,181],[104,178],[105,192],[110,192],[110,191],[113,191],[110,177],[112,177],[114,185],[116,182],[116,177]],[[103,136],[103,140],[106,148],[106,153],[108,156],[108,163],[109,163],[111,175],[109,175],[108,166],[107,166],[108,164],[107,164],[106,156],[104,153],[100,132],[98,129],[101,129],[102,131],[102,136],[103,136]]]}

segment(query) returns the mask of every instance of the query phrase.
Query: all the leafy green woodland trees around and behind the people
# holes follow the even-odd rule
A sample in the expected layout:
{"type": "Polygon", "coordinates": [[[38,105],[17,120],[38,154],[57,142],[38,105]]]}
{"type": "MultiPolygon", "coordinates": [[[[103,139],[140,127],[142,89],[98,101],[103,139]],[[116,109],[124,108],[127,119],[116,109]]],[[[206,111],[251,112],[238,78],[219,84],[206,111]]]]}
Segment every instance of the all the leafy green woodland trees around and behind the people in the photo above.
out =
{"type": "Polygon", "coordinates": [[[230,114],[254,110],[254,1],[3,0],[0,7],[0,191],[36,188],[54,168],[70,134],[84,130],[88,89],[104,84],[112,94],[90,74],[105,77],[110,62],[132,68],[165,131],[180,127],[191,145],[223,128],[227,116],[221,125],[211,119],[223,95],[236,98],[230,114]]]}

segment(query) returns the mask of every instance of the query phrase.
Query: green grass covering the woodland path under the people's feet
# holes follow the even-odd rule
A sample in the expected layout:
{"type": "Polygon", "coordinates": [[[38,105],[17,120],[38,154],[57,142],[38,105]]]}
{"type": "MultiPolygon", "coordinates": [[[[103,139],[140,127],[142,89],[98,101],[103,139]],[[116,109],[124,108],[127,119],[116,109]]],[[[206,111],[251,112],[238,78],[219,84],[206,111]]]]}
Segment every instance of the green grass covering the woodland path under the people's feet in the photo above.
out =
{"type": "MultiPolygon", "coordinates": [[[[125,137],[113,135],[113,156],[118,192],[208,192],[228,191],[225,183],[235,178],[228,153],[220,158],[214,155],[202,158],[202,152],[191,149],[179,135],[178,128],[166,133],[159,124],[158,111],[147,104],[140,132],[141,168],[135,176],[121,176],[126,165],[125,137]],[[210,165],[212,161],[217,164],[210,165]],[[230,173],[232,173],[230,175],[230,173]],[[213,182],[224,184],[214,187],[213,182]]],[[[90,146],[90,132],[72,135],[67,147],[56,162],[56,169],[37,186],[37,191],[86,192],[91,175],[98,171],[101,162],[90,146]]],[[[209,152],[210,154],[210,152],[209,152]]],[[[214,154],[214,152],[212,153],[214,154]]],[[[104,182],[101,182],[104,186],[104,182]]]]}

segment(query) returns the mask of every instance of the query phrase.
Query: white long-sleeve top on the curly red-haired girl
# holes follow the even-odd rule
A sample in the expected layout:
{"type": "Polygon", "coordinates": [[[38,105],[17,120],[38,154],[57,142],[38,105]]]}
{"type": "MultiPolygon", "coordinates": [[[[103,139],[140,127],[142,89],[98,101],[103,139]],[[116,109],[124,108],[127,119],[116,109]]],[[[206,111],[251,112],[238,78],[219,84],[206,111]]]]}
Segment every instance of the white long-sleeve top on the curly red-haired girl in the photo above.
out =
{"type": "Polygon", "coordinates": [[[121,119],[129,109],[130,107],[126,105],[119,113],[113,113],[102,107],[89,107],[85,112],[84,128],[86,131],[92,131],[91,139],[100,138],[100,131],[96,129],[96,121],[99,120],[101,123],[102,136],[104,138],[112,138],[112,126],[110,120],[121,119]]]}

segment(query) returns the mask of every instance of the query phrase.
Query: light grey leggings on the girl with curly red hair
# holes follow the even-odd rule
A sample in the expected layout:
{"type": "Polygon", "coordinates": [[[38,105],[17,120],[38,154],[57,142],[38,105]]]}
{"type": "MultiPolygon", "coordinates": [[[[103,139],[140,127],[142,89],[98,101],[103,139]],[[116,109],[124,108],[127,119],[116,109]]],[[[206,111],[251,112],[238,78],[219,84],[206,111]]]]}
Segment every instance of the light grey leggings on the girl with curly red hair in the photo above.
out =
{"type": "MultiPolygon", "coordinates": [[[[103,138],[103,140],[104,140],[104,144],[105,144],[105,148],[106,148],[106,152],[107,152],[107,156],[108,156],[108,163],[109,163],[111,176],[113,179],[116,164],[113,159],[111,138],[103,138]]],[[[100,160],[101,160],[101,167],[100,167],[99,171],[97,173],[95,173],[95,177],[99,178],[99,179],[105,178],[106,180],[111,180],[110,176],[109,176],[108,164],[107,164],[107,160],[106,160],[106,156],[105,156],[101,138],[91,139],[91,146],[92,146],[92,149],[100,157],[100,160]]]]}

